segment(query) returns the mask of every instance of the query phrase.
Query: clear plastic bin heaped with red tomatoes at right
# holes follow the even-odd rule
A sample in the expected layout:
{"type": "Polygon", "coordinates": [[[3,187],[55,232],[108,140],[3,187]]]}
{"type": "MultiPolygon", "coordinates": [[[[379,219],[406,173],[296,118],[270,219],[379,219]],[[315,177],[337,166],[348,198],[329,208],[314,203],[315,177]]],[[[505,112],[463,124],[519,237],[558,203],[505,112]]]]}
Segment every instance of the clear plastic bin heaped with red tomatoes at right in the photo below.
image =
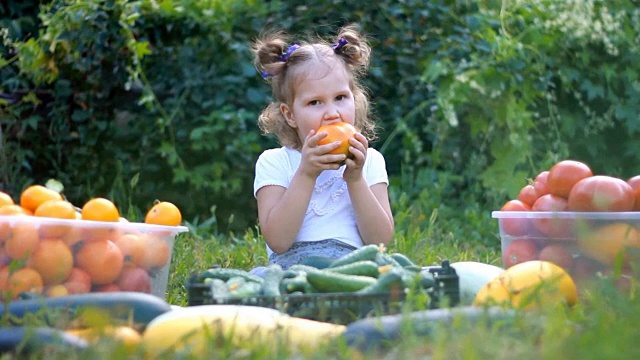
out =
{"type": "Polygon", "coordinates": [[[624,283],[640,260],[640,176],[595,175],[585,163],[563,160],[492,216],[505,268],[546,260],[578,284],[602,277],[624,283]]]}

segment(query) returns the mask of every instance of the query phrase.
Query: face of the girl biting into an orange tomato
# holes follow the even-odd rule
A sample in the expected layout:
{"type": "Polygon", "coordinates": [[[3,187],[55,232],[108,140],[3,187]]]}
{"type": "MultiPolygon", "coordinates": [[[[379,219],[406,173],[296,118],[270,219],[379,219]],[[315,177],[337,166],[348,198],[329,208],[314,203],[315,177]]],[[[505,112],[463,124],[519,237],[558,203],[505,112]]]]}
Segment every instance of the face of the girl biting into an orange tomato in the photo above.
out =
{"type": "Polygon", "coordinates": [[[309,64],[309,73],[298,79],[291,105],[280,105],[287,123],[296,129],[303,144],[311,130],[337,121],[354,125],[356,118],[347,71],[338,65],[329,69],[317,65],[309,64]]]}

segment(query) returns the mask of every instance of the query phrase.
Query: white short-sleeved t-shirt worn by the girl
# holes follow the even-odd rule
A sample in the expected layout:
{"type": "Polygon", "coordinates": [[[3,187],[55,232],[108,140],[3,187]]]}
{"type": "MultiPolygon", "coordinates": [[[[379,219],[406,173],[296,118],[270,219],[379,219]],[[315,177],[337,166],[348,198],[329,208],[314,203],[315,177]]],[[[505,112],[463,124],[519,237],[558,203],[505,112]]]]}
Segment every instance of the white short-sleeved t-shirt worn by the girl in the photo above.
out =
{"type": "MultiPolygon", "coordinates": [[[[253,195],[256,196],[263,186],[288,188],[300,166],[301,158],[300,151],[287,147],[264,151],[256,162],[253,195]]],[[[325,170],[316,179],[296,242],[337,239],[358,248],[363,245],[347,183],[342,178],[345,168],[346,166],[342,166],[338,170],[325,170]]],[[[376,149],[367,149],[362,174],[369,186],[389,184],[384,157],[376,149]]],[[[273,253],[268,245],[267,252],[269,255],[273,253]]]]}

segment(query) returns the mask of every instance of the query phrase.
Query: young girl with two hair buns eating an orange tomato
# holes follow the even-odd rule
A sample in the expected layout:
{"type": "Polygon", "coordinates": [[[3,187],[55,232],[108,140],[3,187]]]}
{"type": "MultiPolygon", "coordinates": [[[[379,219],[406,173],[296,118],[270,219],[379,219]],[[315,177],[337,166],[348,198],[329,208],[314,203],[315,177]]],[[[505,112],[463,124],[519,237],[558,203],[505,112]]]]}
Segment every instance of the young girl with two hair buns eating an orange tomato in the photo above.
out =
{"type": "Polygon", "coordinates": [[[339,258],[364,244],[386,245],[394,232],[385,161],[369,148],[375,124],[359,83],[371,48],[354,26],[333,43],[288,44],[276,33],[253,47],[274,98],[259,125],[282,145],[258,158],[254,196],[269,263],[284,269],[312,255],[339,258]],[[341,121],[359,131],[349,156],[330,154],[340,142],[318,144],[327,133],[316,130],[341,121]]]}

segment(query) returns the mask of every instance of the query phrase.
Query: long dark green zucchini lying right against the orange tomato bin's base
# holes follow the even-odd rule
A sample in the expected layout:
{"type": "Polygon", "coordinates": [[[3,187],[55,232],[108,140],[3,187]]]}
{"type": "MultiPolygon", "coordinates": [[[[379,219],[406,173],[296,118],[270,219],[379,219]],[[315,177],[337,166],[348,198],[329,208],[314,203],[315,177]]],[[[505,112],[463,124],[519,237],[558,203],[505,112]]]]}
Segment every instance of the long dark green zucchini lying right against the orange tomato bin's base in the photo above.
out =
{"type": "Polygon", "coordinates": [[[47,325],[55,326],[61,318],[77,318],[84,310],[105,312],[114,322],[132,320],[144,328],[156,316],[171,311],[171,305],[157,296],[140,292],[105,292],[75,294],[52,298],[16,300],[0,304],[0,317],[15,321],[42,314],[47,325]]]}

